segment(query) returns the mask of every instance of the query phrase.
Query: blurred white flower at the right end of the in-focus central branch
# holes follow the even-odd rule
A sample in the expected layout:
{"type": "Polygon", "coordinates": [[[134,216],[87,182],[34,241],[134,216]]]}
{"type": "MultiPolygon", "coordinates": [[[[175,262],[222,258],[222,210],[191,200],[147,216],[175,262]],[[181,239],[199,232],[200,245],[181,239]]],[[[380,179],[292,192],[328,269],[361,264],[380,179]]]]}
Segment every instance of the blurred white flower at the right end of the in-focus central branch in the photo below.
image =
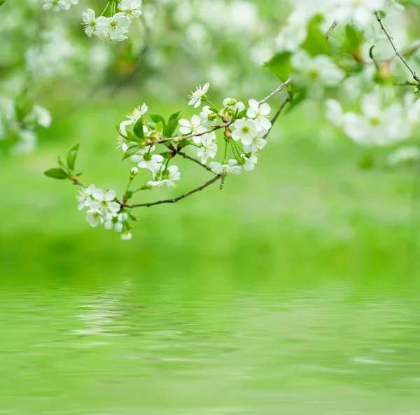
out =
{"type": "Polygon", "coordinates": [[[313,95],[323,95],[322,86],[335,86],[345,73],[335,62],[326,55],[311,57],[306,50],[299,50],[290,60],[295,73],[293,81],[299,86],[308,86],[314,91],[313,95]]]}

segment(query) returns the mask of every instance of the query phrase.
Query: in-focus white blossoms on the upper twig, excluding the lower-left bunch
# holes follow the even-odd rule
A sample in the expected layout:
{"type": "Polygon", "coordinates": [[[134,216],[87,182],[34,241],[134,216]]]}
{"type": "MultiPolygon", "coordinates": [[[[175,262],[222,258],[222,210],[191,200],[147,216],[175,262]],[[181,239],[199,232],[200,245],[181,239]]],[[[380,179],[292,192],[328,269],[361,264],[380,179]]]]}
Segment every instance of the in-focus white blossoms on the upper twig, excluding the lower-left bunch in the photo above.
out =
{"type": "MultiPolygon", "coordinates": [[[[190,119],[178,120],[179,137],[174,142],[183,142],[183,147],[195,149],[195,155],[202,164],[208,163],[209,168],[216,175],[239,175],[241,172],[250,172],[258,162],[258,152],[265,147],[265,137],[272,124],[268,119],[270,107],[267,103],[260,104],[257,100],[249,100],[248,107],[243,102],[234,98],[223,100],[223,107],[217,109],[207,101],[209,83],[197,87],[190,95],[190,106],[199,108],[204,105],[200,114],[195,114],[190,119]],[[216,130],[222,130],[218,121],[225,125],[223,138],[216,135],[216,130]],[[222,142],[222,143],[221,143],[222,142]],[[225,147],[221,161],[214,161],[220,147],[225,147]],[[230,157],[229,157],[230,155],[230,157]]],[[[139,147],[136,142],[130,142],[127,130],[145,116],[148,107],[143,104],[127,115],[128,120],[120,123],[118,131],[118,147],[124,152],[136,149],[130,159],[137,163],[136,169],[146,170],[151,175],[151,180],[146,183],[148,188],[167,187],[175,188],[176,182],[181,178],[179,167],[169,165],[172,161],[170,154],[153,154],[157,149],[153,140],[160,136],[156,130],[158,124],[143,124],[144,137],[151,139],[152,144],[147,147],[139,147]],[[138,149],[136,147],[139,147],[138,149]]],[[[137,172],[136,172],[137,174],[137,172]]]]}

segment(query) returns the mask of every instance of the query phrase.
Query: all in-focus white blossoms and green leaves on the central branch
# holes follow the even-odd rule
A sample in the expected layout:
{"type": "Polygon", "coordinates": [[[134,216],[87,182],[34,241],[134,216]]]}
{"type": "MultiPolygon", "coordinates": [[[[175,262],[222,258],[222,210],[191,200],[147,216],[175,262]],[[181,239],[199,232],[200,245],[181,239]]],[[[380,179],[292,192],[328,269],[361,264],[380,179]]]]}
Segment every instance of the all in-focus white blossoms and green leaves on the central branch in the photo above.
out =
{"type": "Polygon", "coordinates": [[[190,119],[181,118],[180,113],[176,113],[168,121],[160,115],[151,115],[151,122],[147,122],[148,107],[142,104],[127,114],[127,119],[117,126],[118,148],[123,150],[123,160],[130,158],[135,163],[130,168],[129,182],[120,200],[113,190],[103,191],[94,184],[84,186],[78,181],[79,175],[75,173],[78,145],[69,151],[67,165],[59,159],[59,168],[47,170],[45,175],[53,179],[71,179],[73,184],[82,186],[76,196],[78,210],[86,210],[85,218],[90,226],[103,225],[105,229],[115,229],[121,234],[121,239],[130,240],[130,220],[137,220],[131,209],[139,205],[129,205],[128,201],[139,191],[176,188],[176,182],[181,179],[179,166],[172,163],[176,156],[188,158],[215,175],[205,186],[216,179],[224,181],[229,175],[254,170],[259,151],[267,144],[266,138],[272,128],[269,120],[271,108],[266,102],[268,97],[261,102],[248,100],[247,106],[228,97],[218,109],[208,100],[209,87],[210,84],[205,83],[189,96],[190,106],[195,109],[202,107],[200,114],[190,119]],[[179,135],[174,136],[177,130],[179,135]],[[223,132],[220,137],[217,135],[219,131],[223,132]],[[224,147],[223,157],[216,161],[220,147],[224,147]],[[158,148],[160,153],[157,152],[158,148]],[[197,158],[181,151],[188,149],[197,158]],[[140,170],[146,172],[148,178],[144,184],[132,190],[131,186],[140,170]]]}

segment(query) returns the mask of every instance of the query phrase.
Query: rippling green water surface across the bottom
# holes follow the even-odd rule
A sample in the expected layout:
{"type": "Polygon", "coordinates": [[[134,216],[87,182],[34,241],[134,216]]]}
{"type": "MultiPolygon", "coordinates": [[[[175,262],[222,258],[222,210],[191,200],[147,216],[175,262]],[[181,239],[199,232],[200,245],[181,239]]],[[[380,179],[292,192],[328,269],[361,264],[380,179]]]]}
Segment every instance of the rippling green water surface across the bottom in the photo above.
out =
{"type": "Polygon", "coordinates": [[[418,413],[413,292],[127,280],[1,294],[5,414],[418,413]]]}

